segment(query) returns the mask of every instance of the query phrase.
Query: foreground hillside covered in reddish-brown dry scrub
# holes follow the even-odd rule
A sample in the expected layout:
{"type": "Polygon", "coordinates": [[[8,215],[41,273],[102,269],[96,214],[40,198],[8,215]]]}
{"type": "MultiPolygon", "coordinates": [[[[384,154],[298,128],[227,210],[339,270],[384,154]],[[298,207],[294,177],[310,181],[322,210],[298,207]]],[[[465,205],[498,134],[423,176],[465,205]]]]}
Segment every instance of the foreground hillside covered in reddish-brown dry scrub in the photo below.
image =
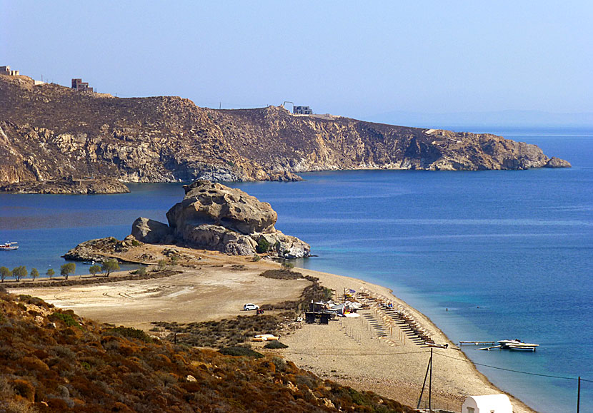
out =
{"type": "Polygon", "coordinates": [[[280,357],[159,342],[28,295],[0,291],[0,308],[2,412],[412,412],[280,357]]]}

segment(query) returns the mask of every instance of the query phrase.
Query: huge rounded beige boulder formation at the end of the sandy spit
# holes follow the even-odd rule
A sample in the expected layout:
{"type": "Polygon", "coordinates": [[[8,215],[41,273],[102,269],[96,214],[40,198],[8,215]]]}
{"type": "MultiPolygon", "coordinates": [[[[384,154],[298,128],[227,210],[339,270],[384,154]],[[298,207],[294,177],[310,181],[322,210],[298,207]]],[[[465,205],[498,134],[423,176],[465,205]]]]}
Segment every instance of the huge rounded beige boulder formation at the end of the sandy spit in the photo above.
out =
{"type": "Polygon", "coordinates": [[[307,243],[274,228],[278,215],[269,203],[208,180],[196,180],[184,189],[184,199],[166,213],[169,226],[147,218],[134,221],[132,235],[136,240],[164,243],[172,234],[196,248],[232,255],[309,256],[307,243]]]}

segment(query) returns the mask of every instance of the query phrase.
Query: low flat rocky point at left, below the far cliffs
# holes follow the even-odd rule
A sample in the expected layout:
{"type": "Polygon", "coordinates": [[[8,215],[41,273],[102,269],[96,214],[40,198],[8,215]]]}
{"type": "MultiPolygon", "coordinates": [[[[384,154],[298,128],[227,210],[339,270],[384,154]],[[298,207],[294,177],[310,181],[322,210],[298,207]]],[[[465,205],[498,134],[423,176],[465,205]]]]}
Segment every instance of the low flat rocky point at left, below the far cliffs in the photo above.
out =
{"type": "Polygon", "coordinates": [[[53,193],[67,195],[91,195],[106,193],[129,193],[126,185],[114,179],[84,180],[27,180],[19,183],[0,185],[0,191],[10,193],[53,193]]]}

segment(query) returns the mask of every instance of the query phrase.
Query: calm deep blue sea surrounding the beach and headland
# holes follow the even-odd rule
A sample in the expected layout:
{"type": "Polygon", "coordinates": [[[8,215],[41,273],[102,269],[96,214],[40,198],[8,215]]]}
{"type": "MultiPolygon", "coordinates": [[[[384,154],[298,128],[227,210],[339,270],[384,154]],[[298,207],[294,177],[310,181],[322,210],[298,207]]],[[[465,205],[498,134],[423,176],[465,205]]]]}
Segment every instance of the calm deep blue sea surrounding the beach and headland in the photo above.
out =
{"type": "MultiPolygon", "coordinates": [[[[271,203],[276,228],[312,245],[316,256],[297,267],[390,287],[454,342],[537,343],[536,352],[463,350],[540,412],[576,411],[582,377],[580,411],[593,412],[593,128],[487,131],[535,143],[572,168],[352,170],[229,185],[271,203]]],[[[0,241],[20,245],[0,251],[0,265],[59,273],[60,255],[77,243],[122,239],[139,216],[166,222],[183,196],[181,184],[129,187],[118,195],[0,194],[0,241]]]]}

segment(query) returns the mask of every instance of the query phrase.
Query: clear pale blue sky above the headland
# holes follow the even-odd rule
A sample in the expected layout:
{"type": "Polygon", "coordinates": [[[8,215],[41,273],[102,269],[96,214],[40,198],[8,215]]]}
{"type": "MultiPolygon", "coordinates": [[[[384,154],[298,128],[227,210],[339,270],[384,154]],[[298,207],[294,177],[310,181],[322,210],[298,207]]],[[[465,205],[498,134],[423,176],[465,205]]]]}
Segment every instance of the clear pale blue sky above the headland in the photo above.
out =
{"type": "Polygon", "coordinates": [[[0,66],[199,106],[593,112],[593,1],[7,1],[0,66]]]}

